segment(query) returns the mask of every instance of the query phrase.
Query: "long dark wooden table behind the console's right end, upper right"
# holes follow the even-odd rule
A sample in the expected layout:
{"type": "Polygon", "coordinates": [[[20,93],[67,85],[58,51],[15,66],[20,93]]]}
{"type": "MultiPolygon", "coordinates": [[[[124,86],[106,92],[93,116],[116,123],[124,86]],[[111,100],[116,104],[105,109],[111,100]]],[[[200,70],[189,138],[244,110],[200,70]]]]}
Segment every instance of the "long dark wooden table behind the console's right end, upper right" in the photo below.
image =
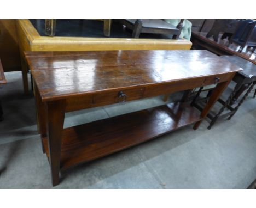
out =
{"type": "Polygon", "coordinates": [[[253,51],[238,52],[240,46],[236,44],[229,44],[228,41],[218,39],[218,42],[210,38],[206,38],[205,32],[192,32],[191,42],[193,49],[206,49],[211,51],[218,56],[223,55],[236,55],[242,57],[250,62],[256,64],[256,54],[253,51]]]}

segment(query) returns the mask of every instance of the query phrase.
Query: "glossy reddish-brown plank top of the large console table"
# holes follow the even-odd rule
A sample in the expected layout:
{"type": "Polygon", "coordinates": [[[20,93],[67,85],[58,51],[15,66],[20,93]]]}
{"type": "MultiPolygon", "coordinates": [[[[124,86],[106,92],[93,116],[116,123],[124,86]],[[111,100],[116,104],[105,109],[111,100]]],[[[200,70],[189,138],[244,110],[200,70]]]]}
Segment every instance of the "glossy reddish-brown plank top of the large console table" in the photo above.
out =
{"type": "Polygon", "coordinates": [[[25,52],[25,56],[42,101],[242,70],[206,50],[25,52]]]}

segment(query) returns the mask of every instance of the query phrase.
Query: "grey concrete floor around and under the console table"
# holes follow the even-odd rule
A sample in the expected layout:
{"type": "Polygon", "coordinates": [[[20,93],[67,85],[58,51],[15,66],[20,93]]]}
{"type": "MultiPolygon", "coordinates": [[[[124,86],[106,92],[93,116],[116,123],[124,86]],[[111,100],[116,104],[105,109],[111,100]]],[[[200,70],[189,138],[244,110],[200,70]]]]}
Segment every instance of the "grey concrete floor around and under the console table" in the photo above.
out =
{"type": "MultiPolygon", "coordinates": [[[[53,188],[37,132],[34,98],[22,94],[21,72],[5,76],[8,84],[0,89],[5,116],[0,123],[0,188],[53,188]]],[[[65,127],[163,103],[159,96],[67,113],[65,127]]],[[[256,178],[255,121],[256,99],[251,93],[230,121],[219,120],[211,130],[203,121],[196,131],[190,125],[66,170],[54,188],[247,188],[256,178]]]]}

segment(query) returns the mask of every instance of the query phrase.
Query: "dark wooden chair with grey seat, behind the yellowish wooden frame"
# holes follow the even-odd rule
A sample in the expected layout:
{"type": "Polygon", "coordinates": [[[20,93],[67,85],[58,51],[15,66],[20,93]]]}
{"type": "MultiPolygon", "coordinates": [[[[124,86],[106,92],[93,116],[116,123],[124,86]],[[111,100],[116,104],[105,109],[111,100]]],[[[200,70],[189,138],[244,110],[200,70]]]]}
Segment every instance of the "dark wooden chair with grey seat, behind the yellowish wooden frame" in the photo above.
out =
{"type": "Polygon", "coordinates": [[[184,20],[181,20],[177,27],[165,22],[164,20],[136,20],[126,19],[118,20],[127,28],[132,30],[132,38],[139,38],[141,33],[155,33],[155,34],[171,34],[172,39],[178,39],[181,34],[182,24],[184,20]]]}

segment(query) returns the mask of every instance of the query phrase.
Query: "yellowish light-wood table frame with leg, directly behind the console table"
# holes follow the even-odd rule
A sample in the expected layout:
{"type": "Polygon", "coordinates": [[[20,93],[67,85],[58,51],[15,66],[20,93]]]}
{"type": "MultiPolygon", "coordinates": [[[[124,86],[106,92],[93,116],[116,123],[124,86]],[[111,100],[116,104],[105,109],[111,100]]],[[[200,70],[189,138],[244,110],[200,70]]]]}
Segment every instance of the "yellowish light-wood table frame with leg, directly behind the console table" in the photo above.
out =
{"type": "Polygon", "coordinates": [[[24,51],[190,50],[185,39],[78,38],[41,36],[29,20],[17,20],[24,93],[28,93],[28,68],[24,51]]]}

